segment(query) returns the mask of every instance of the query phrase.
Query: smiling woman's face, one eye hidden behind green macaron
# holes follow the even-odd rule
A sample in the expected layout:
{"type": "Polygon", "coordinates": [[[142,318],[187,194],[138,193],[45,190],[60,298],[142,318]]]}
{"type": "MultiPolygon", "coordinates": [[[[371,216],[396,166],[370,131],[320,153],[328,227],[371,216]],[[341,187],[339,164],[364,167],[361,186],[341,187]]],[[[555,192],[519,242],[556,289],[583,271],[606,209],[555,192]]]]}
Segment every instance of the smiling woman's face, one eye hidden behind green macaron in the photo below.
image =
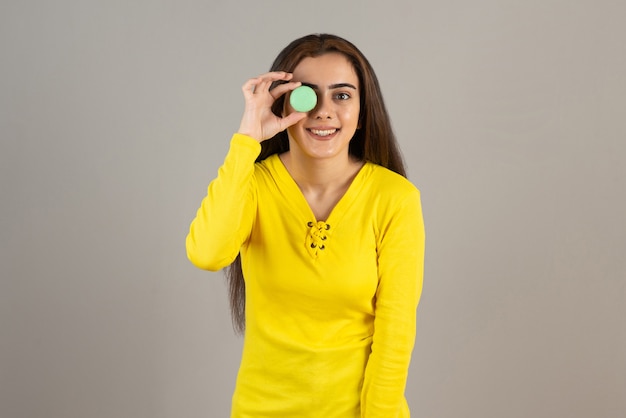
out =
{"type": "MultiPolygon", "coordinates": [[[[317,105],[308,117],[289,127],[290,151],[308,158],[348,158],[348,147],[359,123],[359,78],[348,59],[340,53],[304,58],[293,71],[317,94],[317,105]]],[[[294,112],[285,100],[285,113],[294,112]]]]}

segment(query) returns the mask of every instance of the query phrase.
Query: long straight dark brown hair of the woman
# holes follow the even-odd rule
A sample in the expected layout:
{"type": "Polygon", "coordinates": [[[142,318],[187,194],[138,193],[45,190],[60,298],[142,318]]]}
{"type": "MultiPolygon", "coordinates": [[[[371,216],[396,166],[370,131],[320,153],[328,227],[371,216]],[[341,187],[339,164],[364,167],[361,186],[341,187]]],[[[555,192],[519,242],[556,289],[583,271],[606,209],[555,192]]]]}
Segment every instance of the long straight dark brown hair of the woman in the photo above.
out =
{"type": "MultiPolygon", "coordinates": [[[[317,57],[329,52],[343,54],[353,65],[359,78],[361,89],[361,112],[359,126],[350,141],[349,152],[352,156],[386,167],[406,177],[404,162],[396,137],[391,128],[391,120],[378,78],[365,56],[349,41],[330,34],[313,34],[296,39],[283,49],[272,64],[270,71],[293,72],[296,66],[307,57],[317,57]]],[[[272,88],[275,87],[274,85],[272,88]]],[[[282,114],[285,96],[277,99],[272,111],[277,116],[282,114]]],[[[257,162],[273,154],[289,150],[287,132],[282,131],[261,143],[261,154],[257,162]]],[[[233,327],[238,333],[245,330],[245,282],[241,268],[240,255],[227,268],[226,277],[230,295],[230,308],[233,327]]]]}

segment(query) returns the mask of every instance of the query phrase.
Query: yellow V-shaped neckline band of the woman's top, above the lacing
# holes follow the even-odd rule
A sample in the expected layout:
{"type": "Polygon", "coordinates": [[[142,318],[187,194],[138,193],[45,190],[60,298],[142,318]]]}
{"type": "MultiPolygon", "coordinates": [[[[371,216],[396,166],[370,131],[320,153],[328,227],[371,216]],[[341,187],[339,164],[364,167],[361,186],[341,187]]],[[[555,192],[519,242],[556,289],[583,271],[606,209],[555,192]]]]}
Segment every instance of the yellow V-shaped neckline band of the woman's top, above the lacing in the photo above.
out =
{"type": "Polygon", "coordinates": [[[311,205],[306,200],[304,193],[298,186],[298,183],[296,183],[294,178],[289,173],[289,170],[287,170],[287,167],[285,167],[285,164],[280,159],[279,155],[274,154],[270,158],[273,160],[272,163],[275,166],[276,173],[278,174],[281,182],[285,185],[285,187],[293,190],[292,196],[298,196],[298,200],[300,201],[298,206],[301,208],[305,208],[304,212],[306,213],[303,213],[303,215],[306,216],[306,221],[313,221],[315,223],[324,222],[329,225],[335,225],[341,220],[350,204],[354,201],[354,197],[360,192],[358,184],[364,180],[367,172],[370,171],[370,163],[366,161],[357,171],[345,193],[339,198],[335,206],[333,206],[333,208],[330,210],[328,217],[326,219],[317,219],[315,213],[313,213],[311,205]]]}

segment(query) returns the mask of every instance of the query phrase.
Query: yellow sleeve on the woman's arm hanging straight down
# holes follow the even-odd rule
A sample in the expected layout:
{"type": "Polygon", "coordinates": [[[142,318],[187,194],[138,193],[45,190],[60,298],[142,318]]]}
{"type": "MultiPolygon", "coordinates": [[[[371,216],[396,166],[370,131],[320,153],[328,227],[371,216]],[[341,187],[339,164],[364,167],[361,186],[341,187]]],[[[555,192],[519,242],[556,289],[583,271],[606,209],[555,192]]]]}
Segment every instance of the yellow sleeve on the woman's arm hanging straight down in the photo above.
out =
{"type": "Polygon", "coordinates": [[[424,272],[424,223],[417,189],[387,216],[378,244],[372,351],[361,393],[363,418],[408,416],[404,397],[424,272]]]}

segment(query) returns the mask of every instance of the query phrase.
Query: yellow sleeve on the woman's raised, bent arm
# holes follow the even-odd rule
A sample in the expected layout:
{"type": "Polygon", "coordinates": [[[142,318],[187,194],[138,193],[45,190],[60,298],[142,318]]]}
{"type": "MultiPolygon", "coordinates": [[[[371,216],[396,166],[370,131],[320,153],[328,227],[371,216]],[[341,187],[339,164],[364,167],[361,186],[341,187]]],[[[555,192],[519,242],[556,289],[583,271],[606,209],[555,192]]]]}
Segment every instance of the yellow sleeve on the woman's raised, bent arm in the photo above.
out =
{"type": "Polygon", "coordinates": [[[254,162],[260,152],[255,139],[233,135],[187,235],[187,257],[196,267],[217,271],[230,265],[247,240],[256,208],[254,162]]]}

